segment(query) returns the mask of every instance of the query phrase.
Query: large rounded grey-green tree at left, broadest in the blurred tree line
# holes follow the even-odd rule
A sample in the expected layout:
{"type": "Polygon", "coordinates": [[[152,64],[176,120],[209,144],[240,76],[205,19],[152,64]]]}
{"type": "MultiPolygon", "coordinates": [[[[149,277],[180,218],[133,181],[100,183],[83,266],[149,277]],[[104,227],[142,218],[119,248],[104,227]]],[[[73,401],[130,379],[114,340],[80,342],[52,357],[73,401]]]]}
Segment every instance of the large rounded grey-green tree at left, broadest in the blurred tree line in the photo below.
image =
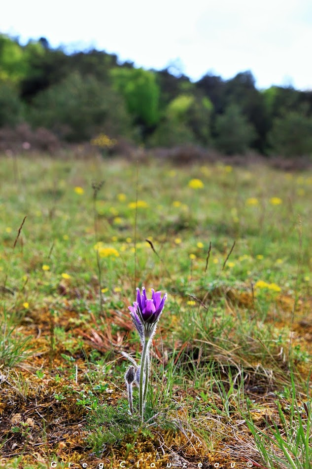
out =
{"type": "Polygon", "coordinates": [[[110,136],[129,133],[130,119],[122,98],[93,76],[74,72],[39,93],[30,119],[69,141],[88,140],[97,131],[110,136]]]}

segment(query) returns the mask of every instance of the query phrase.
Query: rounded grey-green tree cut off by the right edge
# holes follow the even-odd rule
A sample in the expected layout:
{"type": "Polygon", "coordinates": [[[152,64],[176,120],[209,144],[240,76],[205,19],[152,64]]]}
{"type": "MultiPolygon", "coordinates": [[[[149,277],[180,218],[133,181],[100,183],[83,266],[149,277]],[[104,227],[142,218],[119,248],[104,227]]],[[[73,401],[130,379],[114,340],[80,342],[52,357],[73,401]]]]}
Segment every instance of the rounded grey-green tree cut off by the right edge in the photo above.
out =
{"type": "Polygon", "coordinates": [[[282,156],[312,155],[312,117],[291,111],[276,117],[269,134],[273,153],[282,156]]]}

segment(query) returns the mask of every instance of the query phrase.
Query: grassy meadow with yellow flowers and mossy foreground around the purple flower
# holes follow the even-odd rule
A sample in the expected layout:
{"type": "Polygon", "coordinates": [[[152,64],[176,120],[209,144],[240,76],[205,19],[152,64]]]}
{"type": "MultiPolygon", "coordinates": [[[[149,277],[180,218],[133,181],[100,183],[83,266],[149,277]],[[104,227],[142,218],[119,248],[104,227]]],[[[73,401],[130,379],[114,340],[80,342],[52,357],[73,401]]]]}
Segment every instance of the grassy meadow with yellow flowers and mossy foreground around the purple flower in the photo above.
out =
{"type": "Polygon", "coordinates": [[[1,468],[312,468],[312,171],[0,161],[1,468]]]}

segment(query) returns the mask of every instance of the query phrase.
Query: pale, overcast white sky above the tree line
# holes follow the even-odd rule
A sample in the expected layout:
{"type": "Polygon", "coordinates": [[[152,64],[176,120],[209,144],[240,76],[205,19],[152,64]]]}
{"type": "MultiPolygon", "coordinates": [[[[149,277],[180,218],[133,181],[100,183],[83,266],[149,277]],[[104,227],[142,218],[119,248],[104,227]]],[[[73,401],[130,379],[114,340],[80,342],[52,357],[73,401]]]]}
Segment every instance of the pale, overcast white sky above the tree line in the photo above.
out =
{"type": "Polygon", "coordinates": [[[312,90],[311,0],[2,0],[0,32],[95,47],[198,80],[250,70],[260,89],[312,90]]]}

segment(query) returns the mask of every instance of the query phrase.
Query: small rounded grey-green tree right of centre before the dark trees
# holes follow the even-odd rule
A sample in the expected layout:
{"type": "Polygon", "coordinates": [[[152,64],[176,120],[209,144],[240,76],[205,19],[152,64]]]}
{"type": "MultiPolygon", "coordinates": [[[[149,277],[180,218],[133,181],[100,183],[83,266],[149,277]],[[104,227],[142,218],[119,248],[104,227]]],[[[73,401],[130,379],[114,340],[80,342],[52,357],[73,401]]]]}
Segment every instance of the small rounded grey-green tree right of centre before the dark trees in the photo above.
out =
{"type": "Polygon", "coordinates": [[[226,155],[244,154],[255,137],[255,130],[239,106],[231,104],[216,117],[216,146],[226,155]]]}

